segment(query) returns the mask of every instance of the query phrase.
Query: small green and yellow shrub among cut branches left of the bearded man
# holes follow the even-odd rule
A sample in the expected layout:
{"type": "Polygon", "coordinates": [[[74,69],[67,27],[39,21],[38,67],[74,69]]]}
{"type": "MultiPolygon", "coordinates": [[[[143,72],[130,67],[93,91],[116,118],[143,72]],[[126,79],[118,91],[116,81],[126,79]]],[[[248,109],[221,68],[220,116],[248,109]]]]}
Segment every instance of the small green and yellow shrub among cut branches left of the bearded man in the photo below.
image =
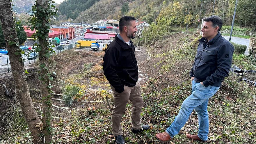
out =
{"type": "Polygon", "coordinates": [[[83,96],[83,90],[77,86],[65,86],[65,92],[63,93],[63,99],[67,106],[71,106],[74,100],[77,100],[83,96]]]}

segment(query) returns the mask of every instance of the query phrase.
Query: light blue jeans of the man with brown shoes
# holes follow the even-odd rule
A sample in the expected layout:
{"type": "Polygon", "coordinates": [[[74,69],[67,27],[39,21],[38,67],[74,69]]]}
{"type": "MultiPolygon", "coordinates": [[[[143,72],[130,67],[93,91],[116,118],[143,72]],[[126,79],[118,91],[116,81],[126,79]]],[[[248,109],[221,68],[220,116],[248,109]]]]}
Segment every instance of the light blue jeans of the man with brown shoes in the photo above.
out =
{"type": "Polygon", "coordinates": [[[199,122],[198,136],[201,140],[206,141],[208,139],[207,134],[209,133],[208,99],[212,97],[219,88],[219,86],[205,87],[193,80],[191,95],[183,101],[178,115],[175,117],[170,127],[166,129],[166,132],[173,138],[173,136],[179,133],[180,129],[188,121],[191,112],[195,109],[199,122]]]}

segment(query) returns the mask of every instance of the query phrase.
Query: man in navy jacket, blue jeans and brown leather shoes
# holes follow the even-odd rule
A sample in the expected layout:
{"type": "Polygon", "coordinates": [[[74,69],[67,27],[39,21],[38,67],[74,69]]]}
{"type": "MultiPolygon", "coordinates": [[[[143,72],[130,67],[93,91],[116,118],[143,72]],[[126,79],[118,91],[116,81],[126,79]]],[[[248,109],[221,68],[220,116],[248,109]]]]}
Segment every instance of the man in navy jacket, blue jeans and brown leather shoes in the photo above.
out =
{"type": "Polygon", "coordinates": [[[207,112],[208,99],[220,88],[224,77],[227,77],[232,64],[234,47],[219,32],[222,20],[218,16],[203,19],[202,38],[199,40],[197,54],[190,70],[192,93],[187,97],[175,117],[173,123],[165,132],[156,134],[161,142],[170,141],[185,125],[193,110],[198,115],[198,134],[186,134],[194,141],[207,142],[209,133],[209,118],[207,112]]]}

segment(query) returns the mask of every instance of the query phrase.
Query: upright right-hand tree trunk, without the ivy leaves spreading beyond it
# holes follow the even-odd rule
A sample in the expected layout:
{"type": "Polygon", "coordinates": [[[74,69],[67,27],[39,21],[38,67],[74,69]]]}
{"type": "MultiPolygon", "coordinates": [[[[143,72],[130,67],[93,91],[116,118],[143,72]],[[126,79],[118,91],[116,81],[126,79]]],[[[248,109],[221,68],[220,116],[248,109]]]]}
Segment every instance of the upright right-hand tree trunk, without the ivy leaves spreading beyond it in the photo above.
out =
{"type": "Polygon", "coordinates": [[[51,115],[51,90],[49,81],[49,17],[43,13],[49,8],[48,0],[37,0],[38,15],[35,15],[42,25],[38,27],[38,47],[39,51],[39,65],[40,65],[40,80],[41,80],[41,93],[42,93],[42,111],[43,111],[43,133],[45,136],[45,143],[52,143],[52,115],[51,115]]]}

